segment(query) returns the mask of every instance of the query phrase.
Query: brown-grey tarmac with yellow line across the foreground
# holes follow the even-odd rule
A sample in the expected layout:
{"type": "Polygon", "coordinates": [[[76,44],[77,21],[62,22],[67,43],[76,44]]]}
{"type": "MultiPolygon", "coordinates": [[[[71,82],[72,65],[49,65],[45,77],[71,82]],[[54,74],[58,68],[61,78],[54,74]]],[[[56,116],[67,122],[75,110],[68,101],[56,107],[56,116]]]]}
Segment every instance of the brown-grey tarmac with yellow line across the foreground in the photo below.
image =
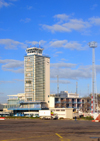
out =
{"type": "Polygon", "coordinates": [[[0,141],[100,141],[100,123],[75,120],[5,119],[0,141]]]}

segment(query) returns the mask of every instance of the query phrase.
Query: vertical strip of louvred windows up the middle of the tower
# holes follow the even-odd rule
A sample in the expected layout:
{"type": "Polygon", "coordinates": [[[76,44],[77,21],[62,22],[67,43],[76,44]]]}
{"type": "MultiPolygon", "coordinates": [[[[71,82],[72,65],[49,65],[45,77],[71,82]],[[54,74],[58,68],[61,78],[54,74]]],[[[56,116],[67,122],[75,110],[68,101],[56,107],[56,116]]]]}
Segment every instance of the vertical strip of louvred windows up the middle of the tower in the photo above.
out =
{"type": "Polygon", "coordinates": [[[35,56],[35,101],[45,101],[45,59],[35,56]]]}

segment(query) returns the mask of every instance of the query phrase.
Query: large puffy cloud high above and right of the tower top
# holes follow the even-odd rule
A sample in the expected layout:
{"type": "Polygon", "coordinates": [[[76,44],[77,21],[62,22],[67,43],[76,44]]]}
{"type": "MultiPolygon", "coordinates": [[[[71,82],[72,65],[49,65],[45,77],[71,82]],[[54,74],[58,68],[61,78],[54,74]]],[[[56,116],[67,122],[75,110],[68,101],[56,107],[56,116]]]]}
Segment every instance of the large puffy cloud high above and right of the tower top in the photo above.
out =
{"type": "Polygon", "coordinates": [[[76,31],[84,31],[87,28],[90,28],[92,25],[89,21],[83,21],[83,19],[72,19],[69,18],[66,14],[58,14],[55,15],[54,18],[58,18],[59,22],[53,25],[41,25],[43,29],[48,29],[51,32],[72,32],[72,30],[76,31]],[[66,22],[67,20],[67,22],[66,22]]]}

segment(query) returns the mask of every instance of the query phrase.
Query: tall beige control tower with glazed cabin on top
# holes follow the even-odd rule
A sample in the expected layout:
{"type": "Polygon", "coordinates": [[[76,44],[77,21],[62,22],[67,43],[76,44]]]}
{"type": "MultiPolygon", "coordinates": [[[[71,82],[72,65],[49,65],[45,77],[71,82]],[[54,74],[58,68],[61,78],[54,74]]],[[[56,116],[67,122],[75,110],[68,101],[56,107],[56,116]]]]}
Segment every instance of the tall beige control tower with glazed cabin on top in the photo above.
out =
{"type": "Polygon", "coordinates": [[[42,55],[43,48],[27,48],[24,57],[25,100],[49,104],[50,57],[42,55]]]}

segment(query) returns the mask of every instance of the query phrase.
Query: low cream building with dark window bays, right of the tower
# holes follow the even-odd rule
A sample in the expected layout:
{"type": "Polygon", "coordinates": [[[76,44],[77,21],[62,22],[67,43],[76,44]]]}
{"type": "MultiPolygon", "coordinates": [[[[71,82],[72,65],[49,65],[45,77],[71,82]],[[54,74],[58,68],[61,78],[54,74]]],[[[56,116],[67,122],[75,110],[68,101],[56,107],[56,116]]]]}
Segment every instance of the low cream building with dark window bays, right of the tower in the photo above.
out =
{"type": "Polygon", "coordinates": [[[76,93],[68,93],[67,91],[61,91],[59,94],[50,95],[50,108],[82,108],[82,98],[76,93]]]}

